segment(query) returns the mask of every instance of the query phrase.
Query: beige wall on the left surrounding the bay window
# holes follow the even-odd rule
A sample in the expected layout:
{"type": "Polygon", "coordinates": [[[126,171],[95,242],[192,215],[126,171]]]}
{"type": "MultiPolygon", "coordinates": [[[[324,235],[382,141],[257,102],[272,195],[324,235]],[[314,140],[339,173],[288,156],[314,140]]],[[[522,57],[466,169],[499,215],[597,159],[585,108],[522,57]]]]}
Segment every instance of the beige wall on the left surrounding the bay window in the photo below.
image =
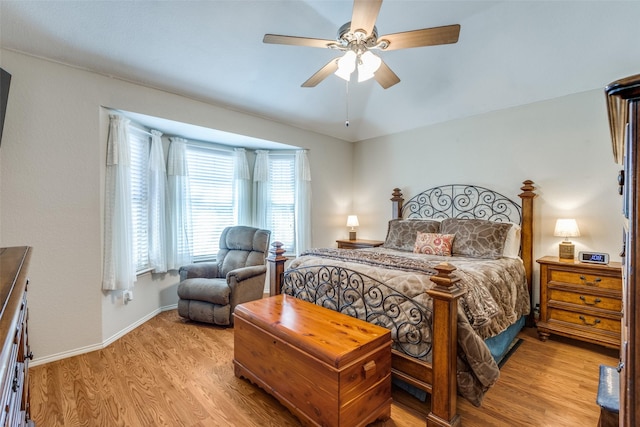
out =
{"type": "Polygon", "coordinates": [[[101,348],[177,302],[175,274],[139,277],[128,305],[101,291],[102,106],[308,148],[314,244],[342,237],[352,194],[352,144],[14,52],[0,54],[0,65],[12,74],[0,148],[0,246],[34,247],[29,332],[35,363],[101,348]]]}

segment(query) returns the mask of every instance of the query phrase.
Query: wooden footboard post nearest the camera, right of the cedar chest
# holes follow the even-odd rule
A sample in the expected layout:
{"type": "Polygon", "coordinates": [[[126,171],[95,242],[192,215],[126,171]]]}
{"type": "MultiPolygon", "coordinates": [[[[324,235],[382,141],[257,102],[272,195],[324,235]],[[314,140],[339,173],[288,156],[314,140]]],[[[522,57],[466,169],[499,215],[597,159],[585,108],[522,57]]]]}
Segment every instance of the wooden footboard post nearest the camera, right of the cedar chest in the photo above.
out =
{"type": "Polygon", "coordinates": [[[448,263],[438,264],[438,274],[431,276],[435,287],[427,293],[433,298],[432,329],[432,393],[431,411],[427,415],[427,427],[459,426],[457,412],[457,348],[458,348],[458,298],[464,295],[452,273],[456,269],[448,263]]]}

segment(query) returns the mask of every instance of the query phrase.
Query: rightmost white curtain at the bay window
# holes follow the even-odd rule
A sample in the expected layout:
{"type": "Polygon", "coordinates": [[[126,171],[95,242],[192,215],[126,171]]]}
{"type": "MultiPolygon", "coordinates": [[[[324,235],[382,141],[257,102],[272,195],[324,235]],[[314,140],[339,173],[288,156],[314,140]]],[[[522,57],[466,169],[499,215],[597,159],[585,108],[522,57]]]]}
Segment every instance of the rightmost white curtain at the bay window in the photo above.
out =
{"type": "Polygon", "coordinates": [[[296,252],[311,247],[311,168],[307,150],[296,151],[296,252]]]}

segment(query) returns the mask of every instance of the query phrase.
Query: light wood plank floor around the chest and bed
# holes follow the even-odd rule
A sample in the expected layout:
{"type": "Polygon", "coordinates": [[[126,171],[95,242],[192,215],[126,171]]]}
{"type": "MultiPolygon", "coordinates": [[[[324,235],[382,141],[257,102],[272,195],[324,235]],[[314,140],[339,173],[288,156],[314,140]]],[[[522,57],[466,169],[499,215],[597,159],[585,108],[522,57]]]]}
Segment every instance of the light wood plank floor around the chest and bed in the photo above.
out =
{"type": "MultiPolygon", "coordinates": [[[[598,366],[617,354],[534,329],[501,370],[482,407],[458,400],[462,425],[596,426],[598,366]]],[[[298,426],[282,405],[233,375],[233,329],[167,311],[107,348],[30,369],[32,418],[49,426],[298,426]]],[[[417,401],[394,392],[391,419],[424,426],[417,401]]]]}

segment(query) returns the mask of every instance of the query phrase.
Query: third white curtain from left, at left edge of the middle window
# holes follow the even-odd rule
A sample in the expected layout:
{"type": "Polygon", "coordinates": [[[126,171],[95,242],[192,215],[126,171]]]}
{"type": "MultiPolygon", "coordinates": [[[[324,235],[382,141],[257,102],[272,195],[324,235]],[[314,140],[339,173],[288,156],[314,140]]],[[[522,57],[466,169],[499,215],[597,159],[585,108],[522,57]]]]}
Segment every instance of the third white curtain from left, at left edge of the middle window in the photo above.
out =
{"type": "Polygon", "coordinates": [[[167,269],[177,270],[192,261],[189,171],[186,140],[170,138],[170,141],[167,158],[169,184],[167,269]]]}

